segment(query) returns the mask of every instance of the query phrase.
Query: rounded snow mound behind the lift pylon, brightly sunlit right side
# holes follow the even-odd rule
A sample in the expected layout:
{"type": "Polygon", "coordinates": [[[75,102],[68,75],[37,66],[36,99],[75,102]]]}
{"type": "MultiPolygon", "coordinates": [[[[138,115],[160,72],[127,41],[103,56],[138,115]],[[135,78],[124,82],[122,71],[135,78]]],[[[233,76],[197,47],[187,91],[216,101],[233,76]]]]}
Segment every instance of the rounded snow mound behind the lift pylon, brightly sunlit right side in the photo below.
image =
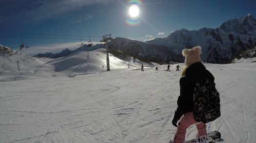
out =
{"type": "MultiPolygon", "coordinates": [[[[123,69],[128,67],[128,63],[126,61],[122,61],[112,54],[109,54],[109,58],[110,69],[123,69]]],[[[62,72],[67,75],[102,72],[102,70],[106,70],[106,53],[105,49],[102,48],[89,52],[80,51],[63,58],[52,60],[48,62],[47,65],[51,65],[55,72],[62,72]]],[[[130,66],[131,68],[135,66],[138,67],[140,66],[140,63],[131,63],[130,66]]]]}

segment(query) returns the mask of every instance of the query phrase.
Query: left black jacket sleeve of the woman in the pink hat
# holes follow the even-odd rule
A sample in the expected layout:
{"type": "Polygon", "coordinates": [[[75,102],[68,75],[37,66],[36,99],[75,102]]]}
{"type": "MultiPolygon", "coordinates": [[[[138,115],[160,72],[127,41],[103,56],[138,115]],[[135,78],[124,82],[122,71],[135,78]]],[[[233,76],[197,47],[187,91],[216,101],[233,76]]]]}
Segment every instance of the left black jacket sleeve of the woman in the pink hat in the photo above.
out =
{"type": "Polygon", "coordinates": [[[178,107],[175,111],[174,118],[179,120],[181,116],[186,113],[185,106],[187,104],[187,92],[188,92],[189,81],[187,77],[180,78],[180,96],[178,97],[178,107]]]}

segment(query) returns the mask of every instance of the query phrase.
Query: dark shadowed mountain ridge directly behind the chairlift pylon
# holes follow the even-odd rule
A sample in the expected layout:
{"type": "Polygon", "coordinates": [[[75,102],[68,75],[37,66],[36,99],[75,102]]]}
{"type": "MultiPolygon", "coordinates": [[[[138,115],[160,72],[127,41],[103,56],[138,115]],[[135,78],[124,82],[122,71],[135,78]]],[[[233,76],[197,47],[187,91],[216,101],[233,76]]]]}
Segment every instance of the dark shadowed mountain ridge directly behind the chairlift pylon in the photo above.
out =
{"type": "Polygon", "coordinates": [[[144,62],[168,63],[181,62],[181,54],[176,54],[172,49],[141,41],[117,37],[109,43],[110,52],[122,59],[133,56],[144,62]]]}

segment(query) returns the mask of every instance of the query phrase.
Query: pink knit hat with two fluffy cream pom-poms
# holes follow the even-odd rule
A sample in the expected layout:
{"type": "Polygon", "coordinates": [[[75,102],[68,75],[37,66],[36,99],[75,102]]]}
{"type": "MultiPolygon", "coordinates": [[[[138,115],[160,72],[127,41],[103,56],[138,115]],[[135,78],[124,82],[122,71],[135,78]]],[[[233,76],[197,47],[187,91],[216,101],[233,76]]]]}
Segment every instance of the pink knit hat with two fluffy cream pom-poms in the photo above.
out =
{"type": "Polygon", "coordinates": [[[190,66],[196,62],[201,62],[201,47],[196,46],[192,49],[183,49],[182,55],[185,56],[185,65],[190,66]]]}

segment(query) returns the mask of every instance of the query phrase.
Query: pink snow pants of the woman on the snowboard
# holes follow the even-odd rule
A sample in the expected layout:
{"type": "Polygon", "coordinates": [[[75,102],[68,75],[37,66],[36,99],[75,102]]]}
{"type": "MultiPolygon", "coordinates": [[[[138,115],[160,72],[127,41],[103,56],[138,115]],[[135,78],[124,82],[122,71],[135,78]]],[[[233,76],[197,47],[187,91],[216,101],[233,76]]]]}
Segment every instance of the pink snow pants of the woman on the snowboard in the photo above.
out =
{"type": "Polygon", "coordinates": [[[198,137],[202,135],[207,135],[206,125],[203,122],[195,121],[193,112],[187,112],[180,119],[180,123],[174,136],[174,143],[184,142],[187,128],[193,124],[196,124],[197,126],[198,137]]]}

